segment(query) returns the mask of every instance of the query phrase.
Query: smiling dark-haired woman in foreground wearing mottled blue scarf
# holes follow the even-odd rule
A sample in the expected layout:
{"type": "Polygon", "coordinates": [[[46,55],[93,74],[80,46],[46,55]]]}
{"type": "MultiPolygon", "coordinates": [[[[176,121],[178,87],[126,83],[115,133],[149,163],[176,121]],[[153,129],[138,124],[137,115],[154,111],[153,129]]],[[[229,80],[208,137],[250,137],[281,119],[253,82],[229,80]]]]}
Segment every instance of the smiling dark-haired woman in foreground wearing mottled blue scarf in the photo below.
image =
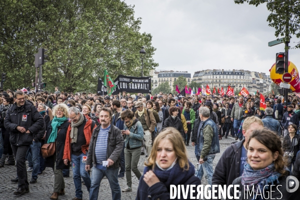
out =
{"type": "MultiPolygon", "coordinates": [[[[249,137],[247,163],[242,175],[232,184],[239,184],[239,199],[294,199],[286,190],[289,171],[283,160],[280,138],[271,130],[254,130],[249,137]],[[270,186],[272,185],[272,186],[270,186]]],[[[230,190],[233,194],[233,189],[230,190]]]]}

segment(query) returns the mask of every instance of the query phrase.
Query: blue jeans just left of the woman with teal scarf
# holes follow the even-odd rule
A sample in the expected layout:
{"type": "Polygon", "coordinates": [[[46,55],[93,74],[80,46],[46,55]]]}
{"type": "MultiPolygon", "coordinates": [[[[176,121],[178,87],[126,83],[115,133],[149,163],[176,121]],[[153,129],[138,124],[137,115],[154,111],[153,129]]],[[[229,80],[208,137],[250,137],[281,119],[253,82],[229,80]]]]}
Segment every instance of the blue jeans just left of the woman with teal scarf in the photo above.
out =
{"type": "Polygon", "coordinates": [[[39,170],[40,141],[32,141],[27,151],[28,166],[32,166],[31,177],[37,179],[39,170]]]}

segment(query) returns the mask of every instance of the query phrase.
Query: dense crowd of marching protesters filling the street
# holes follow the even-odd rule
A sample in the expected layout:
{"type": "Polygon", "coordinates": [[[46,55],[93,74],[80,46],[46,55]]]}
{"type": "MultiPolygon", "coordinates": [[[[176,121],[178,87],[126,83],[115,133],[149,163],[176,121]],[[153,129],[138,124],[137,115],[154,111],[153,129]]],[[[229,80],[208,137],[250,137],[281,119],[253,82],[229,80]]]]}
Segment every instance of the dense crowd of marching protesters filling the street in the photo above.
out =
{"type": "MultiPolygon", "coordinates": [[[[136,199],[167,199],[170,184],[198,185],[203,175],[208,184],[255,188],[282,184],[289,174],[300,179],[300,100],[295,94],[288,96],[286,107],[281,95],[268,94],[264,110],[259,93],[101,96],[55,87],[54,92],[8,89],[0,94],[0,168],[16,165],[17,176],[11,179],[18,183],[16,195],[29,192],[29,183],[36,183],[45,167],[54,174],[50,199],[64,195],[70,167],[72,200],[82,199],[82,183],[89,198],[97,199],[104,177],[112,199],[120,199],[121,192],[132,191],[131,171],[139,179],[136,199]],[[219,140],[232,141],[228,136],[238,141],[225,149],[213,170],[219,140]],[[55,152],[44,156],[42,146],[51,142],[55,152]],[[187,158],[190,144],[196,169],[187,158]],[[140,155],[146,157],[143,175],[137,168],[140,155]],[[124,177],[127,186],[120,188],[118,178],[124,177]]],[[[284,188],[279,191],[293,199],[284,188]]]]}

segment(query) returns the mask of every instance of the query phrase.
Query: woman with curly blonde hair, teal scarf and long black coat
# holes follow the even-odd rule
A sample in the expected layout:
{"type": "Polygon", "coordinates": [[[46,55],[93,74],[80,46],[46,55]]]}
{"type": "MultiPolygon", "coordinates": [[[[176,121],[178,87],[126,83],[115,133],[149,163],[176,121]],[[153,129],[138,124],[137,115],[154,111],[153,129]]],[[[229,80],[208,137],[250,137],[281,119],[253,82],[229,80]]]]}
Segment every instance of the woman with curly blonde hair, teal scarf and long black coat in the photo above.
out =
{"type": "Polygon", "coordinates": [[[51,167],[54,172],[53,194],[50,199],[57,199],[58,195],[64,195],[64,180],[62,169],[68,169],[69,163],[63,163],[63,149],[65,143],[66,130],[70,125],[67,120],[68,107],[64,103],[57,104],[53,107],[53,119],[47,125],[45,142],[55,142],[55,152],[53,155],[45,158],[45,166],[51,167]]]}

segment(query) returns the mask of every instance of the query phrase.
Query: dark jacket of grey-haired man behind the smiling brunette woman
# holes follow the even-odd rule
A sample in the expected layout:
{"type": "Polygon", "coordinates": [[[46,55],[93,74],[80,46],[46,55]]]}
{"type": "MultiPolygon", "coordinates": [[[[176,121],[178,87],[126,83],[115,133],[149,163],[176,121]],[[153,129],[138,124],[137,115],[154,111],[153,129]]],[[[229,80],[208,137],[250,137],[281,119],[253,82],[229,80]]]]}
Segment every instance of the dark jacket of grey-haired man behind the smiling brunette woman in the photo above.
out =
{"type": "Polygon", "coordinates": [[[245,139],[231,143],[231,145],[224,150],[215,166],[215,168],[219,170],[214,170],[211,184],[229,185],[232,184],[235,178],[241,175],[239,174],[239,164],[242,143],[244,141],[245,139]]]}

